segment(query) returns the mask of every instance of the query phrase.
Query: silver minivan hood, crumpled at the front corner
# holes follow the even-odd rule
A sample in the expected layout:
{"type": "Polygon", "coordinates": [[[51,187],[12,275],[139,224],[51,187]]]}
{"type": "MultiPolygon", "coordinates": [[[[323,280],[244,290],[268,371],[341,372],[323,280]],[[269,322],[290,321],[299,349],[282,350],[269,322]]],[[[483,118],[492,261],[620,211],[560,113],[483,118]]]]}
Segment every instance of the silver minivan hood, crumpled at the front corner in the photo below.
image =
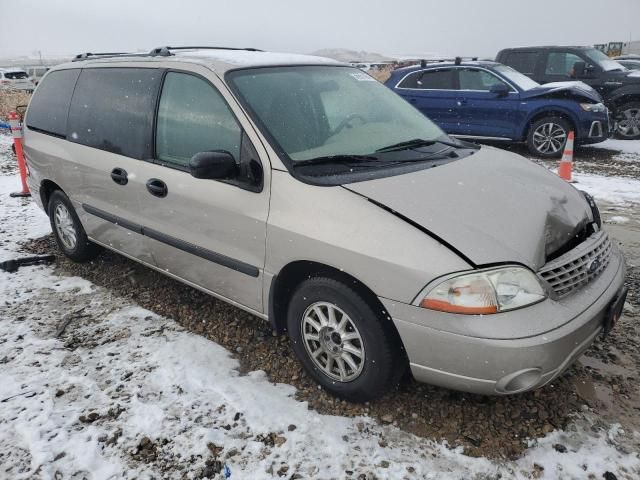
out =
{"type": "Polygon", "coordinates": [[[538,270],[592,221],[573,186],[492,147],[439,167],[343,187],[419,225],[475,266],[514,262],[538,270]]]}

